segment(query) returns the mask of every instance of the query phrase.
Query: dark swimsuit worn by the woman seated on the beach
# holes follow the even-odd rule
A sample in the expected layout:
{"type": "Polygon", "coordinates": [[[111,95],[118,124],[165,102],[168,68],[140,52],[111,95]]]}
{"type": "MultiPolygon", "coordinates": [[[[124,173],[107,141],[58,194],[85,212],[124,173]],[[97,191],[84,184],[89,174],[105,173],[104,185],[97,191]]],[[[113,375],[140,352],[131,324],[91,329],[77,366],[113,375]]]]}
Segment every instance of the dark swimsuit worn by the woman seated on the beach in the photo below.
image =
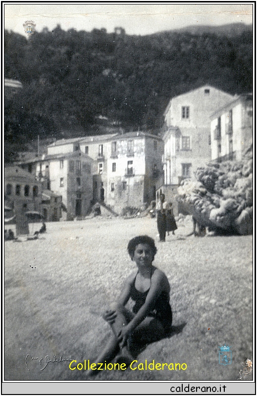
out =
{"type": "MultiPolygon", "coordinates": [[[[150,288],[148,290],[146,290],[143,293],[139,292],[135,286],[136,277],[137,275],[135,276],[130,291],[130,297],[132,298],[133,301],[135,301],[135,305],[133,306],[132,309],[134,313],[137,313],[139,309],[144,305],[148,292],[151,288],[151,284],[150,284],[150,288]]],[[[152,283],[152,274],[151,274],[151,283],[152,283]]],[[[172,311],[169,304],[169,294],[167,292],[163,291],[158,297],[156,297],[153,303],[153,309],[149,312],[148,316],[152,316],[158,319],[162,323],[165,333],[170,332],[171,322],[172,322],[172,311]]]]}

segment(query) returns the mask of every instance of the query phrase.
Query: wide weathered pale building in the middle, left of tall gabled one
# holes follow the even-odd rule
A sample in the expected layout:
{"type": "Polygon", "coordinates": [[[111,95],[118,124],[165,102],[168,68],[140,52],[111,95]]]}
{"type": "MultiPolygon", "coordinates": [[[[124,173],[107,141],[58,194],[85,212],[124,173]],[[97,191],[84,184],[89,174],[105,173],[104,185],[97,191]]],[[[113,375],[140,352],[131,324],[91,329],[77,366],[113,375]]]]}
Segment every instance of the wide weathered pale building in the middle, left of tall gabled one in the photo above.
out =
{"type": "Polygon", "coordinates": [[[143,132],[97,135],[57,141],[48,148],[49,155],[55,149],[58,153],[78,149],[91,157],[93,202],[101,201],[121,213],[125,207],[140,207],[155,199],[162,176],[161,138],[143,132]]]}

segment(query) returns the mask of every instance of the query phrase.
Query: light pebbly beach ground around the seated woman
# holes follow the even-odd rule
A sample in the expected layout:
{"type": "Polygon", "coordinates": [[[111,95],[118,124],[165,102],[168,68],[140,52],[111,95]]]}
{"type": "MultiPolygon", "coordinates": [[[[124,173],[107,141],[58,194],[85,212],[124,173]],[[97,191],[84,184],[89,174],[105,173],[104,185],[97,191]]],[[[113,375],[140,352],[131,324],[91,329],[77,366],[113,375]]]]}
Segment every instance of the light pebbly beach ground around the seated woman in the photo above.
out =
{"type": "MultiPolygon", "coordinates": [[[[176,235],[192,230],[190,221],[178,226],[176,235]]],[[[39,227],[30,225],[31,232],[39,227]]],[[[95,361],[110,336],[101,313],[135,270],[127,243],[148,234],[158,249],[154,264],[170,281],[174,331],[137,360],[187,368],[106,370],[93,380],[236,380],[242,362],[253,357],[252,236],[169,236],[159,243],[156,233],[151,218],[94,218],[48,223],[39,240],[5,242],[4,379],[87,380],[86,371],[59,360],[95,361]],[[224,344],[232,350],[226,366],[218,355],[224,344]],[[50,359],[57,361],[47,364],[50,359]]]]}

